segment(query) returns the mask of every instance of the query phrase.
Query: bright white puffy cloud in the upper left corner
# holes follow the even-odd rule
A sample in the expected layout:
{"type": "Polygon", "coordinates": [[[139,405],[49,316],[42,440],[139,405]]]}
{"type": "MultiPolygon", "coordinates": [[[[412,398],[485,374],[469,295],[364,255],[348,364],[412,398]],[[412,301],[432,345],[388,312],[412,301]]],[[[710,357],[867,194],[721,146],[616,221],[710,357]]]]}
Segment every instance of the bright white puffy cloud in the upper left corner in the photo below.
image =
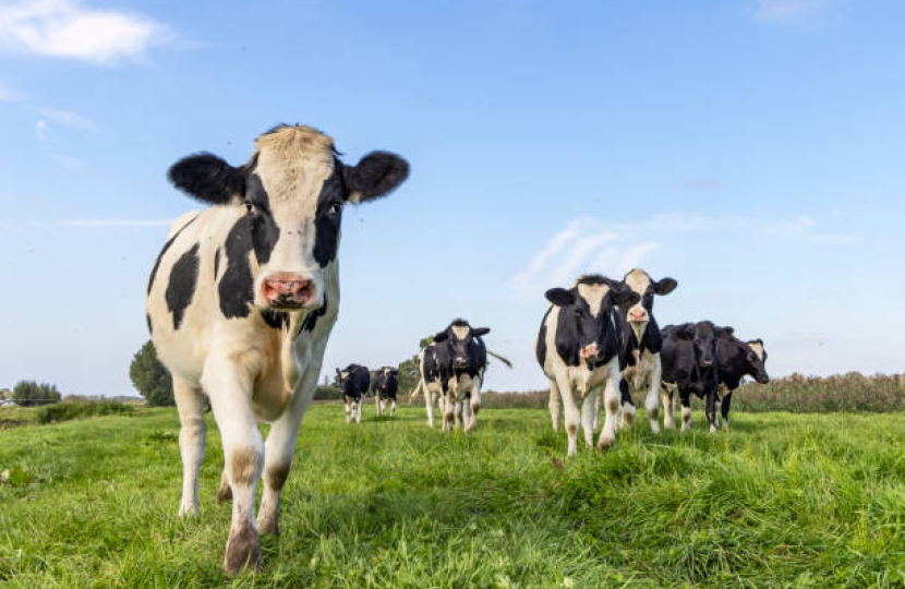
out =
{"type": "Polygon", "coordinates": [[[141,59],[166,40],[161,24],[138,14],[95,10],[75,0],[23,0],[0,8],[0,47],[113,63],[141,59]]]}

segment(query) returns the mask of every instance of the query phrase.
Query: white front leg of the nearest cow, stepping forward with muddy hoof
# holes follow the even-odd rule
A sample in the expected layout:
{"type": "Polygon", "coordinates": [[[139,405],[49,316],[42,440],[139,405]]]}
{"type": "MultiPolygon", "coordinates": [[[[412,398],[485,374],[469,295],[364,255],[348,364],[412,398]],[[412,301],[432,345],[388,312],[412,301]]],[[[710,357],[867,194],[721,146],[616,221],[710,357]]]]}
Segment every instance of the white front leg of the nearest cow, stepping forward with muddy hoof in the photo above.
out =
{"type": "Polygon", "coordinates": [[[224,457],[232,489],[232,525],[224,569],[236,575],[261,568],[261,537],[254,518],[254,495],[264,464],[264,442],[252,412],[251,378],[229,362],[208,362],[203,385],[220,430],[224,457]]]}

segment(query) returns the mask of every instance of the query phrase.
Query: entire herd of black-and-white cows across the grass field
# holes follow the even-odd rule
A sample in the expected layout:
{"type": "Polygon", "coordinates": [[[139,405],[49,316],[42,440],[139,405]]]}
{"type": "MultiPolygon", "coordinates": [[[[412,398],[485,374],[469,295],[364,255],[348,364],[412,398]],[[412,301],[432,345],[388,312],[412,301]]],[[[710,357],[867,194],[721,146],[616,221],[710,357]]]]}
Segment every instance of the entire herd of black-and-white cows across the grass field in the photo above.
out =
{"type": "MultiPolygon", "coordinates": [[[[260,568],[260,534],[278,533],[283,483],[339,310],[343,207],[385,196],[409,175],[408,163],[388,152],[372,152],[354,166],[339,156],[319,131],[279,125],[257,137],[241,166],[202,153],[169,170],[177,188],[213,206],[173,224],[150,272],[146,318],[157,356],[172,375],[179,411],[180,515],[198,512],[208,404],[220,431],[225,465],[217,497],[232,501],[224,558],[229,574],[260,568]],[[270,423],[266,442],[262,421],[270,423]]],[[[709,322],[656,327],[653,297],[675,287],[669,278],[653,281],[632,271],[623,281],[584,276],[570,289],[546,292],[551,306],[538,337],[538,361],[551,383],[554,428],[560,399],[565,407],[569,454],[576,452],[579,422],[592,443],[601,389],[606,417],[599,446],[610,446],[617,417],[625,424],[635,414],[634,389],[647,387],[655,431],[661,389],[668,401],[665,426],[675,423],[676,393],[683,426],[690,424],[693,393],[707,397],[715,428],[721,390],[725,420],[741,374],[765,381],[759,340],[741,342],[731,328],[709,322]]],[[[460,421],[467,431],[474,428],[486,358],[493,354],[482,340],[487,332],[456,320],[422,350],[419,388],[431,424],[436,394],[444,429],[460,421]]],[[[343,392],[347,383],[370,380],[363,366],[339,372],[343,392]]],[[[398,388],[397,374],[385,368],[374,381],[378,411],[387,402],[394,411],[389,392],[398,388]]],[[[348,386],[351,392],[359,385],[348,386]]],[[[347,402],[347,419],[361,419],[360,397],[354,406],[347,402]]]]}

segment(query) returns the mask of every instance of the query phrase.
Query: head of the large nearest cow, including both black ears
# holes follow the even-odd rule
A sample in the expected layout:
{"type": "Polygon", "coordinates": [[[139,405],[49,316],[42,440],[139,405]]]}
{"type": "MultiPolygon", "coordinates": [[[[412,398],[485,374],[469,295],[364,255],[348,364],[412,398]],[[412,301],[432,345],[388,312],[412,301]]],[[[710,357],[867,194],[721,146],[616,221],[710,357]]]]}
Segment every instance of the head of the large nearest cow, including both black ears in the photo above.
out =
{"type": "Polygon", "coordinates": [[[354,167],[337,155],[333,140],[318,131],[281,125],[257,139],[245,166],[234,168],[202,154],[170,168],[177,188],[242,212],[226,252],[228,263],[245,268],[233,277],[233,288],[251,291],[248,299],[255,306],[321,308],[325,268],[339,248],[343,205],[383,196],[408,177],[408,163],[389,153],[373,152],[354,167]]]}

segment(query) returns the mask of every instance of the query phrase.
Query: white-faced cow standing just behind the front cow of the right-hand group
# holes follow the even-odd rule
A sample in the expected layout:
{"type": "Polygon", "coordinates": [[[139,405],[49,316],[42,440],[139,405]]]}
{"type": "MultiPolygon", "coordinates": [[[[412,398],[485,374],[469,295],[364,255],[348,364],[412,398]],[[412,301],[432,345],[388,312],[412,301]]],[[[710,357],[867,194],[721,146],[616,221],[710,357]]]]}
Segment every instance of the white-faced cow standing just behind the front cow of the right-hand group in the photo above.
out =
{"type": "Polygon", "coordinates": [[[622,336],[620,352],[628,364],[619,381],[622,407],[616,428],[631,425],[635,421],[635,401],[631,396],[645,388],[644,408],[651,431],[659,433],[660,377],[663,370],[660,350],[663,337],[653,316],[653,299],[656,296],[665,297],[676,289],[678,283],[674,278],[654,280],[643,269],[635,268],[625,275],[623,285],[637,292],[641,300],[631,305],[619,305],[615,314],[622,336]]]}

